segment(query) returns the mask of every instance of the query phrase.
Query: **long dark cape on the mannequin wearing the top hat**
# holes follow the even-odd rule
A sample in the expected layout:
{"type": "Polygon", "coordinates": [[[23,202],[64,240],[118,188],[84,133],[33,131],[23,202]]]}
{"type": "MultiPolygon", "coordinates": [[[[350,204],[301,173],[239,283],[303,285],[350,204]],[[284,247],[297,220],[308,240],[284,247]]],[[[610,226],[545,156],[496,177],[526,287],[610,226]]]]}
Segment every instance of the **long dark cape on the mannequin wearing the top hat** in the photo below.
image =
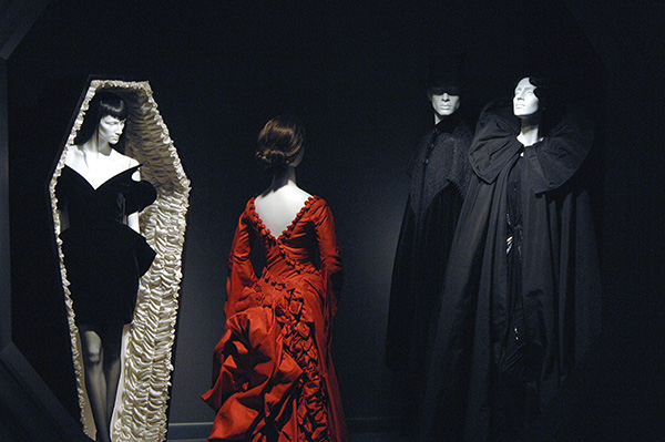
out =
{"type": "MultiPolygon", "coordinates": [[[[399,235],[387,333],[387,366],[403,374],[405,422],[412,426],[424,390],[430,323],[438,317],[446,263],[470,175],[473,136],[461,114],[441,121],[418,144],[399,235]]],[[[400,378],[401,379],[401,378],[400,378]]]]}

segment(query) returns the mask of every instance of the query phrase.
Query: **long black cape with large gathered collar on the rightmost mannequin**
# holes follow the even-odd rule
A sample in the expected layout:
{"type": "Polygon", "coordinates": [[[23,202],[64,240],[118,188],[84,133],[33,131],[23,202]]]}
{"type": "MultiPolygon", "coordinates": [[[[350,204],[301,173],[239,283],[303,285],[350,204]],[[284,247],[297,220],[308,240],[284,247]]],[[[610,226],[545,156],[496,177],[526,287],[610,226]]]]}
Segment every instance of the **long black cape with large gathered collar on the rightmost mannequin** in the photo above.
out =
{"type": "Polygon", "coordinates": [[[533,146],[524,148],[518,134],[510,103],[483,110],[470,148],[474,175],[449,258],[422,441],[502,440],[515,431],[514,422],[503,422],[505,386],[497,361],[512,327],[507,213],[509,174],[518,161],[521,332],[539,351],[531,361],[535,403],[526,410],[526,399],[514,398],[513,411],[522,409],[522,415],[511,419],[523,423],[538,415],[600,332],[600,266],[583,173],[593,134],[570,115],[533,146]]]}

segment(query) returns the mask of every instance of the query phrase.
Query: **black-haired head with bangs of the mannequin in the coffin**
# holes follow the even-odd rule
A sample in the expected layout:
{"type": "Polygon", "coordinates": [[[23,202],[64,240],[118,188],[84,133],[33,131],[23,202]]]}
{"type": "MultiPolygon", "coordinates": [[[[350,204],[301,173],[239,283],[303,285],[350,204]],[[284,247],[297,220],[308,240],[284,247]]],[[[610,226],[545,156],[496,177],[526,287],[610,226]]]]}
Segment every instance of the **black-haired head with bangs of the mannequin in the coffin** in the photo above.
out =
{"type": "Polygon", "coordinates": [[[127,119],[127,105],[119,95],[101,91],[90,101],[85,120],[76,135],[75,144],[81,145],[96,133],[100,140],[114,145],[121,138],[127,119]]]}

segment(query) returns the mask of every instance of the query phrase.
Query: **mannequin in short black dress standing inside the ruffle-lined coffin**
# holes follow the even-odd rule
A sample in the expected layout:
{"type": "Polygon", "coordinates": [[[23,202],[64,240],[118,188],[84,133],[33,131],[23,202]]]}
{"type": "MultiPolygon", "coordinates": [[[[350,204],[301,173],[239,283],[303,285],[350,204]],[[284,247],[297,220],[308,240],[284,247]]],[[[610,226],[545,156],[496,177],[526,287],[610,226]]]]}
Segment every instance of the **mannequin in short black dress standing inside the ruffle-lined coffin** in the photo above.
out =
{"type": "Polygon", "coordinates": [[[98,92],[58,181],[64,263],[79,328],[85,386],[96,440],[111,441],[124,325],[131,322],[139,278],[154,258],[140,234],[139,210],[156,197],[140,181],[139,163],[117,152],[127,107],[98,92]]]}

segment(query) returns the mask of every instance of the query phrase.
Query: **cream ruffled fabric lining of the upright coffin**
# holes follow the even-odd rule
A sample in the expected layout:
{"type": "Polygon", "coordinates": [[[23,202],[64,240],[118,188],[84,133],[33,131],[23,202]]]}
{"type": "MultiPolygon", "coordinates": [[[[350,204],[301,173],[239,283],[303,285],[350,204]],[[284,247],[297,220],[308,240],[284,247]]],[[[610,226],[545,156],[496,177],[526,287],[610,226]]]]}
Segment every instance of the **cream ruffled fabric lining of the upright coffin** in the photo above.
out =
{"type": "MultiPolygon", "coordinates": [[[[191,183],[168,135],[168,129],[160,115],[149,82],[92,80],[49,184],[55,233],[60,232],[55,184],[64,167],[68,150],[74,145],[90,100],[100,90],[114,92],[125,99],[130,109],[125,126],[125,154],[143,164],[142,179],[152,183],[157,191],[155,203],[140,214],[141,233],[155,250],[156,257],[141,278],[134,320],[125,333],[123,373],[115,402],[112,439],[114,442],[158,442],[166,439],[166,412],[173,371],[172,349],[175,342],[191,183]]],[[[81,422],[83,431],[94,439],[94,421],[85,392],[81,342],[74,321],[62,241],[58,235],[55,238],[81,422]]]]}

